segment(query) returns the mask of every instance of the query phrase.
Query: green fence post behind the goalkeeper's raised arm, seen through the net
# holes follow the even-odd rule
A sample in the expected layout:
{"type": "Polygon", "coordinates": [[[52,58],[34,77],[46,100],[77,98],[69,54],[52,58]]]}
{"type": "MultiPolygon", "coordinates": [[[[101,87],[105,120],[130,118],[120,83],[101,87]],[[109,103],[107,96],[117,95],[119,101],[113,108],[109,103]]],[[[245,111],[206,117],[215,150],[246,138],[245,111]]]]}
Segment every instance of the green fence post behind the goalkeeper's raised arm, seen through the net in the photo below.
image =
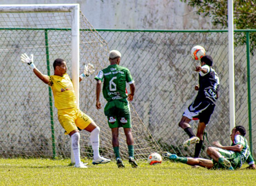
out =
{"type": "MultiPolygon", "coordinates": [[[[49,62],[49,46],[48,46],[48,31],[45,29],[45,48],[46,48],[46,62],[47,62],[47,74],[50,76],[50,62],[49,62]]],[[[54,122],[53,122],[53,111],[52,111],[52,94],[51,87],[48,87],[49,90],[49,103],[50,103],[50,115],[51,115],[51,139],[52,139],[52,158],[56,157],[55,150],[55,133],[54,133],[54,122]]]]}

